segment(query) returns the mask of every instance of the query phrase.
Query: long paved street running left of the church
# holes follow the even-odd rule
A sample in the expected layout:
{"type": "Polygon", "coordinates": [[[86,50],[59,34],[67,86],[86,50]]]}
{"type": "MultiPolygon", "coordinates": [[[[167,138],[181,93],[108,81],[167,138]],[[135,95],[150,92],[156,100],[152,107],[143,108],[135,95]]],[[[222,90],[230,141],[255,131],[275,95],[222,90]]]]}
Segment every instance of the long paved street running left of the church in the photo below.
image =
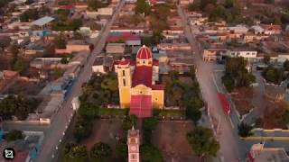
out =
{"type": "Polygon", "coordinates": [[[73,97],[79,96],[81,94],[81,85],[89,80],[89,77],[92,75],[91,66],[94,63],[95,58],[103,49],[107,35],[109,33],[112,23],[115,21],[117,14],[119,13],[122,6],[125,4],[125,1],[122,1],[117,7],[117,11],[112,16],[111,20],[107,23],[105,29],[99,35],[99,40],[95,44],[95,49],[91,53],[87,64],[82,68],[76,82],[71,88],[71,92],[67,97],[66,101],[62,104],[61,110],[57,112],[55,118],[51,123],[49,130],[46,130],[45,138],[43,140],[42,149],[38,157],[39,162],[51,162],[55,160],[52,157],[52,154],[56,152],[56,146],[59,145],[60,139],[63,137],[63,131],[66,130],[68,124],[70,123],[71,114],[73,110],[71,109],[71,101],[73,97]]]}

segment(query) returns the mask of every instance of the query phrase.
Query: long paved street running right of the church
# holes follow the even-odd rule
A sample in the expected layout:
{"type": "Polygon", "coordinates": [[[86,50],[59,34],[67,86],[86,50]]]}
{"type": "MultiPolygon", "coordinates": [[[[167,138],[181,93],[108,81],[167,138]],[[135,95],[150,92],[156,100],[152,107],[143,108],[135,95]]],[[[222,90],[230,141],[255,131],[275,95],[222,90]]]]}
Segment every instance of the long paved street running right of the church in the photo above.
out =
{"type": "Polygon", "coordinates": [[[180,6],[178,6],[178,12],[185,26],[185,35],[195,52],[194,64],[197,67],[197,77],[200,82],[203,97],[210,107],[211,115],[220,121],[219,133],[217,135],[217,139],[219,140],[220,144],[219,157],[222,161],[226,162],[238,161],[239,157],[244,158],[245,155],[240,154],[238,134],[232,128],[228,116],[224,114],[221,104],[219,103],[218,91],[214,85],[211,75],[213,73],[214,66],[211,63],[206,63],[202,60],[199,45],[191,34],[190,27],[187,25],[186,17],[180,6]]]}

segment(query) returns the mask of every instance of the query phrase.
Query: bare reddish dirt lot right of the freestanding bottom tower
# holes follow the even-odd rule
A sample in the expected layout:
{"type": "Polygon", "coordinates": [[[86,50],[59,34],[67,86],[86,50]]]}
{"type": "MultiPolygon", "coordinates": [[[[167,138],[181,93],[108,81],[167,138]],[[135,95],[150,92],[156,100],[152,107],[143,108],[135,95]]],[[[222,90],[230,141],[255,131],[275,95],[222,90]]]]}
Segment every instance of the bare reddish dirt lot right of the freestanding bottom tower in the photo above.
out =
{"type": "Polygon", "coordinates": [[[154,145],[163,152],[164,161],[198,161],[193,156],[186,134],[192,130],[192,124],[178,121],[160,121],[154,131],[154,145]]]}

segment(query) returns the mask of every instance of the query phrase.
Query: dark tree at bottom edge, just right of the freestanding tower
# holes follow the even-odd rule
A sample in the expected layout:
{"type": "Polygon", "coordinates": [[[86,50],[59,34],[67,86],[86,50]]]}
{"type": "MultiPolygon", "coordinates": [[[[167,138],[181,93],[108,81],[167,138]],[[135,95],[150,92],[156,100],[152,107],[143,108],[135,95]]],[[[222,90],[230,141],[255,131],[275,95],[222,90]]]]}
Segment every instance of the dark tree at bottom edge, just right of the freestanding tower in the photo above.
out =
{"type": "Polygon", "coordinates": [[[144,144],[140,148],[141,161],[143,162],[163,162],[163,155],[158,148],[151,144],[144,144]]]}

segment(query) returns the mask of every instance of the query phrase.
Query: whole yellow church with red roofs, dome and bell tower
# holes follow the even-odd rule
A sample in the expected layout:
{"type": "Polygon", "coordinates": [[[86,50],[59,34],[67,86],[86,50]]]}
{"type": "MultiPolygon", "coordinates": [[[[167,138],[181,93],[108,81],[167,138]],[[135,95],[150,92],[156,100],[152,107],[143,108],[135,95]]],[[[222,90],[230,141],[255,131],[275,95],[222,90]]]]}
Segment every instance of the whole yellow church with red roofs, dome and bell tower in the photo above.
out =
{"type": "Polygon", "coordinates": [[[122,58],[115,66],[118,79],[121,108],[129,108],[138,118],[153,115],[153,108],[163,108],[163,85],[159,79],[158,61],[153,59],[151,49],[138,49],[135,61],[122,58]]]}

